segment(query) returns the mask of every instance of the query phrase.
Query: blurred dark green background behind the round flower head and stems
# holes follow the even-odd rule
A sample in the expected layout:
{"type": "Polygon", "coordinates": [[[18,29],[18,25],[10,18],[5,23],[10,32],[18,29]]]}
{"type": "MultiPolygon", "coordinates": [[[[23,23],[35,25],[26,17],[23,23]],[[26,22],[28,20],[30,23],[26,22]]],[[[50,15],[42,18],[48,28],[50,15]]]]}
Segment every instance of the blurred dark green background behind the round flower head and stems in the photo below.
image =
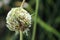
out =
{"type": "MultiPolygon", "coordinates": [[[[0,40],[19,40],[19,34],[10,31],[6,27],[6,16],[11,8],[20,7],[22,0],[0,0],[0,40]]],[[[24,3],[26,9],[32,15],[36,7],[35,0],[26,0],[24,3]]],[[[24,35],[24,40],[31,40],[33,24],[24,35]]],[[[60,40],[60,0],[39,0],[37,26],[35,40],[60,40]]]]}

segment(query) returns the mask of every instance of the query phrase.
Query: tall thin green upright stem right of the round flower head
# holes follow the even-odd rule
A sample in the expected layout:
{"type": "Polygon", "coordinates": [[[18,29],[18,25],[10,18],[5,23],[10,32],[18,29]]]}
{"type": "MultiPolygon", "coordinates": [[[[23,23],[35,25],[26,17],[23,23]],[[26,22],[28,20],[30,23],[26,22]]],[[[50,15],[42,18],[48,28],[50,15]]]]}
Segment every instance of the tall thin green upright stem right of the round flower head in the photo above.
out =
{"type": "Polygon", "coordinates": [[[38,4],[39,4],[39,0],[36,0],[36,9],[35,9],[35,16],[34,16],[34,28],[33,28],[32,40],[35,40],[38,4]]]}

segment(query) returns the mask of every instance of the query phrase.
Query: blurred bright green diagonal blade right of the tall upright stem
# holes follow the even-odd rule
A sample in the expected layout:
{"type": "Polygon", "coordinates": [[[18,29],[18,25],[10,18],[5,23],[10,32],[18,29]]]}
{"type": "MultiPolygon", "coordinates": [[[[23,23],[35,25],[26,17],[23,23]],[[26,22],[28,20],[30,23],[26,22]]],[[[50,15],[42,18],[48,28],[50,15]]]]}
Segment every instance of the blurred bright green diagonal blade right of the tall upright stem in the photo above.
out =
{"type": "Polygon", "coordinates": [[[46,24],[45,22],[43,22],[39,17],[38,17],[37,22],[40,24],[40,26],[42,28],[44,28],[45,30],[55,34],[58,38],[60,38],[60,33],[57,30],[55,30],[54,28],[52,28],[52,26],[50,26],[50,25],[46,24]]]}

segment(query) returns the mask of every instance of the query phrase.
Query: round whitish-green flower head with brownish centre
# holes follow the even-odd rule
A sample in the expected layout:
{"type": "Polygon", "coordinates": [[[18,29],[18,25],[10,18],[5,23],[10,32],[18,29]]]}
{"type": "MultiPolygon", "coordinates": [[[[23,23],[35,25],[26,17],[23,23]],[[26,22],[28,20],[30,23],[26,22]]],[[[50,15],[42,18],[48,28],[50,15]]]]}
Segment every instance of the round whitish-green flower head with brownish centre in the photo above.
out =
{"type": "Polygon", "coordinates": [[[12,8],[6,17],[7,27],[11,31],[26,31],[31,27],[31,15],[23,8],[12,8]]]}

